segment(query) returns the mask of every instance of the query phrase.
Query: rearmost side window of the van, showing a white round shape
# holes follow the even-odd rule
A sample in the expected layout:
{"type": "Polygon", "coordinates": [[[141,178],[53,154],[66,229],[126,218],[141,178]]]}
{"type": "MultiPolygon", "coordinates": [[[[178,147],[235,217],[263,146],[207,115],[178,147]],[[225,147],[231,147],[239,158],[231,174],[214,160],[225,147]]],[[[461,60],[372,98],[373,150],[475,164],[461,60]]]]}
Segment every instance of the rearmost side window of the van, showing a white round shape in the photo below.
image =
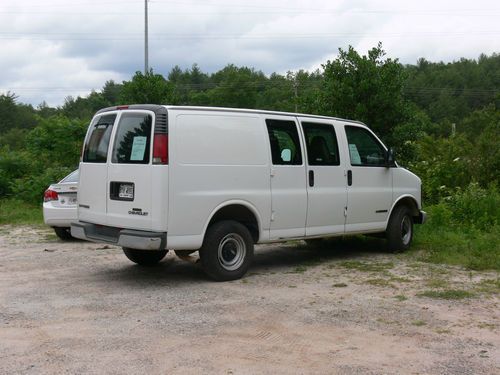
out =
{"type": "Polygon", "coordinates": [[[274,165],[301,165],[299,134],[294,121],[266,120],[274,165]]]}

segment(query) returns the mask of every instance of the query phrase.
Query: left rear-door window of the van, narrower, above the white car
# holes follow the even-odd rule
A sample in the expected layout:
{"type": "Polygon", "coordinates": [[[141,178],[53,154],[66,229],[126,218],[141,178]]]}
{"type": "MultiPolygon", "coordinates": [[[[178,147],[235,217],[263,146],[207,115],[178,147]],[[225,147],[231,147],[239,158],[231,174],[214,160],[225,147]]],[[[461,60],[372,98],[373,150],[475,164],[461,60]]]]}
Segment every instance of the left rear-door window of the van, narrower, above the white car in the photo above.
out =
{"type": "Polygon", "coordinates": [[[94,119],[90,134],[83,148],[83,161],[86,163],[106,163],[108,145],[116,115],[103,115],[94,119]]]}

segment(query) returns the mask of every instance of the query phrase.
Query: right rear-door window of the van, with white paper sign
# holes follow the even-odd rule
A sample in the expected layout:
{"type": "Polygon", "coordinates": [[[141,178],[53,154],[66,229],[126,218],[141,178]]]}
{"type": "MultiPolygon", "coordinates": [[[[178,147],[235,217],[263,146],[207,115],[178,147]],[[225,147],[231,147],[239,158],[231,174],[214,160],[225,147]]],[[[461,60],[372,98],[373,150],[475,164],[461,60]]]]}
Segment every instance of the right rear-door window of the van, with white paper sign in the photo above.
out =
{"type": "Polygon", "coordinates": [[[120,118],[113,146],[113,163],[148,164],[151,115],[124,113],[120,118]]]}

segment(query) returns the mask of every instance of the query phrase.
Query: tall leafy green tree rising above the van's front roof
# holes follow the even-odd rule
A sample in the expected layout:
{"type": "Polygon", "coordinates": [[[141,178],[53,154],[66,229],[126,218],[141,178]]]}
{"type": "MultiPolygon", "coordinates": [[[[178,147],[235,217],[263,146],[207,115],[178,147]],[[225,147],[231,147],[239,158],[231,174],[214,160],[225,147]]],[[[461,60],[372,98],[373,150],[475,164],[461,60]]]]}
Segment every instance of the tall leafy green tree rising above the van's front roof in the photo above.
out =
{"type": "Polygon", "coordinates": [[[352,46],[323,64],[319,109],[323,114],[361,120],[382,137],[407,118],[402,95],[404,67],[384,58],[382,44],[360,56],[352,46]]]}

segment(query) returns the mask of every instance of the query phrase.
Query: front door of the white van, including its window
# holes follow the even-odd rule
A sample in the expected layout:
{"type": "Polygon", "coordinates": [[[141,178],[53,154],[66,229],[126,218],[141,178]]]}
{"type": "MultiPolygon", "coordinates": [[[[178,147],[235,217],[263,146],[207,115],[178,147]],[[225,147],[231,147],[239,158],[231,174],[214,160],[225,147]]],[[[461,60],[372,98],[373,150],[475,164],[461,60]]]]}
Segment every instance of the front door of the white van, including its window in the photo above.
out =
{"type": "Polygon", "coordinates": [[[346,233],[383,231],[392,205],[392,168],[385,146],[369,129],[344,125],[347,148],[346,233]]]}

